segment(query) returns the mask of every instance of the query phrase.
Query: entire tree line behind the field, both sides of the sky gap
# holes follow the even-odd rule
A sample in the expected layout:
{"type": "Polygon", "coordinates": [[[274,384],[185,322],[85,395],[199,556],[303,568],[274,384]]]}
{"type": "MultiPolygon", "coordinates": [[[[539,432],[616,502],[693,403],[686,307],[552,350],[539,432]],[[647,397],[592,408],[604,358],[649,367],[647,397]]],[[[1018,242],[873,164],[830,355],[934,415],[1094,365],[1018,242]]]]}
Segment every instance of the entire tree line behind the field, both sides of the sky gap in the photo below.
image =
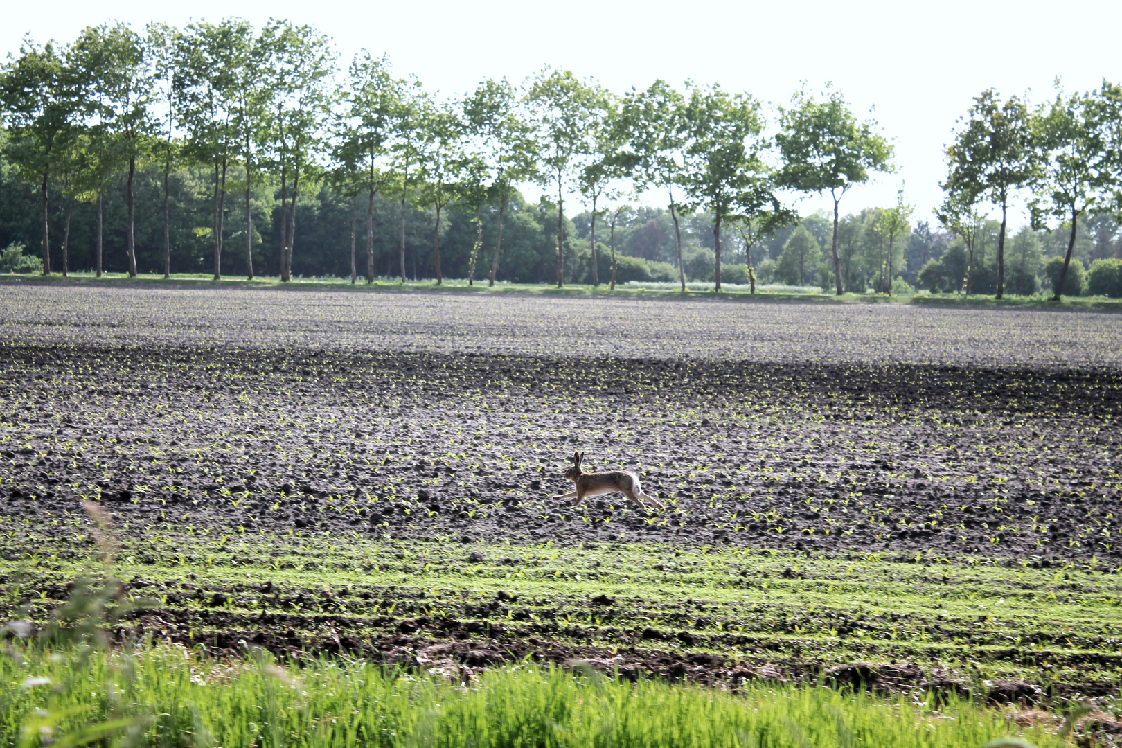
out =
{"type": "MultiPolygon", "coordinates": [[[[469,283],[487,276],[494,284],[504,229],[508,243],[528,241],[540,252],[553,221],[548,251],[557,285],[573,278],[600,285],[606,276],[614,286],[620,261],[627,265],[616,252],[616,229],[629,234],[641,228],[622,222],[638,215],[628,198],[643,192],[664,195],[673,252],[656,261],[670,260],[683,289],[688,269],[698,264],[696,251],[686,256],[683,222],[697,234],[698,219],[708,223],[711,240],[702,243],[711,258],[702,256],[718,290],[730,238],[744,260],[733,277],[753,287],[756,262],[765,261],[774,267],[760,266],[764,275],[815,277],[838,294],[858,286],[859,274],[886,293],[901,274],[920,275],[901,257],[913,237],[912,206],[902,191],[895,205],[863,225],[863,236],[873,239],[861,261],[847,255],[852,216],[842,216],[842,198],[873,173],[892,172],[893,149],[876,122],[856,117],[831,86],[817,95],[795,92],[773,122],[757,99],[718,84],[679,89],[655,81],[617,94],[550,67],[517,86],[485,80],[475,91],[440,98],[365,50],[341,71],[330,39],[313,27],[270,20],[255,29],[232,18],[184,28],[151,24],[142,33],[107,24],[63,46],[25,40],[0,71],[0,190],[19,181],[27,185],[25,197],[36,191],[44,273],[53,268],[52,225],[58,223],[62,238],[54,239],[62,273],[68,271],[76,211],[92,213],[86,225],[95,228],[85,232],[93,233],[92,265],[100,275],[104,209],[119,204],[110,211],[111,230],[123,233],[135,276],[139,188],[149,213],[140,219],[142,234],[149,248],[162,246],[165,276],[175,240],[191,246],[196,259],[205,243],[215,279],[224,251],[237,251],[239,269],[252,278],[267,244],[264,264],[288,280],[297,229],[312,213],[315,221],[333,221],[331,241],[349,249],[351,283],[359,275],[367,283],[388,275],[390,244],[393,271],[404,281],[407,258],[415,268],[424,244],[423,261],[438,284],[449,250],[469,283]],[[517,190],[523,183],[553,197],[527,205],[517,190]],[[800,219],[789,203],[800,193],[830,195],[828,238],[815,238],[809,219],[795,225],[800,219]],[[576,230],[565,215],[570,194],[583,202],[578,215],[587,257],[565,256],[576,230]],[[608,258],[599,256],[605,233],[608,258]],[[761,248],[774,248],[781,236],[782,252],[761,258],[761,248]]],[[[1059,295],[1080,221],[1122,212],[1120,121],[1122,92],[1106,82],[1088,93],[1059,92],[1043,105],[1002,100],[993,91],[975,100],[946,149],[946,201],[938,211],[945,230],[966,248],[967,293],[985,273],[974,257],[984,203],[1002,215],[994,285],[999,297],[1005,293],[1006,212],[1022,192],[1033,227],[1070,227],[1059,295]]],[[[302,237],[314,251],[322,251],[323,239],[302,237]]],[[[732,269],[726,262],[725,274],[732,269]]],[[[656,271],[664,277],[664,268],[656,271]]],[[[709,274],[695,267],[690,275],[709,274]]]]}

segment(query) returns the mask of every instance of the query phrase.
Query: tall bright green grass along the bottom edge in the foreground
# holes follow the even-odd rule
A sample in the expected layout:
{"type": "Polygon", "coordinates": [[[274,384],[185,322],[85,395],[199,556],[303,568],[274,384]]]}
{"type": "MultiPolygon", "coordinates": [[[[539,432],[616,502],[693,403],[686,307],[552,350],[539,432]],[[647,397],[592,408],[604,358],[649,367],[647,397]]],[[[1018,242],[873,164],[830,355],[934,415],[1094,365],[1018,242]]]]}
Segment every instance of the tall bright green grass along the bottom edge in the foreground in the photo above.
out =
{"type": "MultiPolygon", "coordinates": [[[[109,735],[119,745],[222,748],[935,748],[983,746],[1014,731],[1002,713],[968,702],[936,708],[825,687],[733,694],[531,666],[461,685],[362,661],[284,669],[259,652],[215,661],[160,645],[74,655],[8,647],[0,745],[104,745],[109,735]]],[[[1041,729],[1022,735],[1063,745],[1041,729]]]]}

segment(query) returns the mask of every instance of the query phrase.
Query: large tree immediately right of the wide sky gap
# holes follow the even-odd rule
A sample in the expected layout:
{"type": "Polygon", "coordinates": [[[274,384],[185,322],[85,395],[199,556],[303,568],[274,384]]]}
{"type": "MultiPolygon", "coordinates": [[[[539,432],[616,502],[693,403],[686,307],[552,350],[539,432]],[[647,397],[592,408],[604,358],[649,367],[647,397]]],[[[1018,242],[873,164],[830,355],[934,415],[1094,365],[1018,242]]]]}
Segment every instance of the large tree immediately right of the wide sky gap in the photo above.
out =
{"type": "Polygon", "coordinates": [[[1001,207],[997,234],[997,293],[1005,288],[1005,219],[1013,191],[1027,186],[1036,168],[1029,109],[1017,96],[1004,103],[993,89],[974,99],[964,127],[947,146],[950,172],[944,191],[969,192],[1001,207]]]}

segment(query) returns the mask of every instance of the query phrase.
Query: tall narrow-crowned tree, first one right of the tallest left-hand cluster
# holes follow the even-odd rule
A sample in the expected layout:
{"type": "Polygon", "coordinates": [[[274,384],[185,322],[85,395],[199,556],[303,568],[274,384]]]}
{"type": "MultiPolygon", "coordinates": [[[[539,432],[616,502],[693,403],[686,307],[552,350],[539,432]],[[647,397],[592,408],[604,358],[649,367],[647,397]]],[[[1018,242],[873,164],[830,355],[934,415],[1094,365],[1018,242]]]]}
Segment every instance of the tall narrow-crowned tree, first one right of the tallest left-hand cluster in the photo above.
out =
{"type": "Polygon", "coordinates": [[[402,98],[402,84],[390,74],[387,57],[374,57],[364,49],[355,55],[342,92],[344,110],[337,128],[335,160],[356,173],[367,194],[367,284],[374,283],[374,198],[386,184],[386,144],[402,98]]]}

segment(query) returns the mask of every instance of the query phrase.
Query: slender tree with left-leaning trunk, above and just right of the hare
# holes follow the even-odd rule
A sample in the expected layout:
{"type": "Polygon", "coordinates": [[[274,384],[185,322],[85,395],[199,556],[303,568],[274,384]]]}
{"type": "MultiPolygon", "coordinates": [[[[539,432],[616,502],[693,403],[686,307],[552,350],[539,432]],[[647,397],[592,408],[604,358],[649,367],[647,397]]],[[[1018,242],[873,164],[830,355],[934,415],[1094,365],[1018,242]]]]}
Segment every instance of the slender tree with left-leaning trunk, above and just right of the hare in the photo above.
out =
{"type": "Polygon", "coordinates": [[[632,91],[624,99],[622,122],[627,133],[623,163],[635,183],[635,192],[657,186],[669,195],[668,207],[674,222],[678,246],[678,279],[686,290],[686,267],[682,262],[682,231],[679,225],[680,205],[674,187],[681,175],[682,148],[686,145],[686,98],[663,81],[655,81],[645,91],[632,91]]]}

